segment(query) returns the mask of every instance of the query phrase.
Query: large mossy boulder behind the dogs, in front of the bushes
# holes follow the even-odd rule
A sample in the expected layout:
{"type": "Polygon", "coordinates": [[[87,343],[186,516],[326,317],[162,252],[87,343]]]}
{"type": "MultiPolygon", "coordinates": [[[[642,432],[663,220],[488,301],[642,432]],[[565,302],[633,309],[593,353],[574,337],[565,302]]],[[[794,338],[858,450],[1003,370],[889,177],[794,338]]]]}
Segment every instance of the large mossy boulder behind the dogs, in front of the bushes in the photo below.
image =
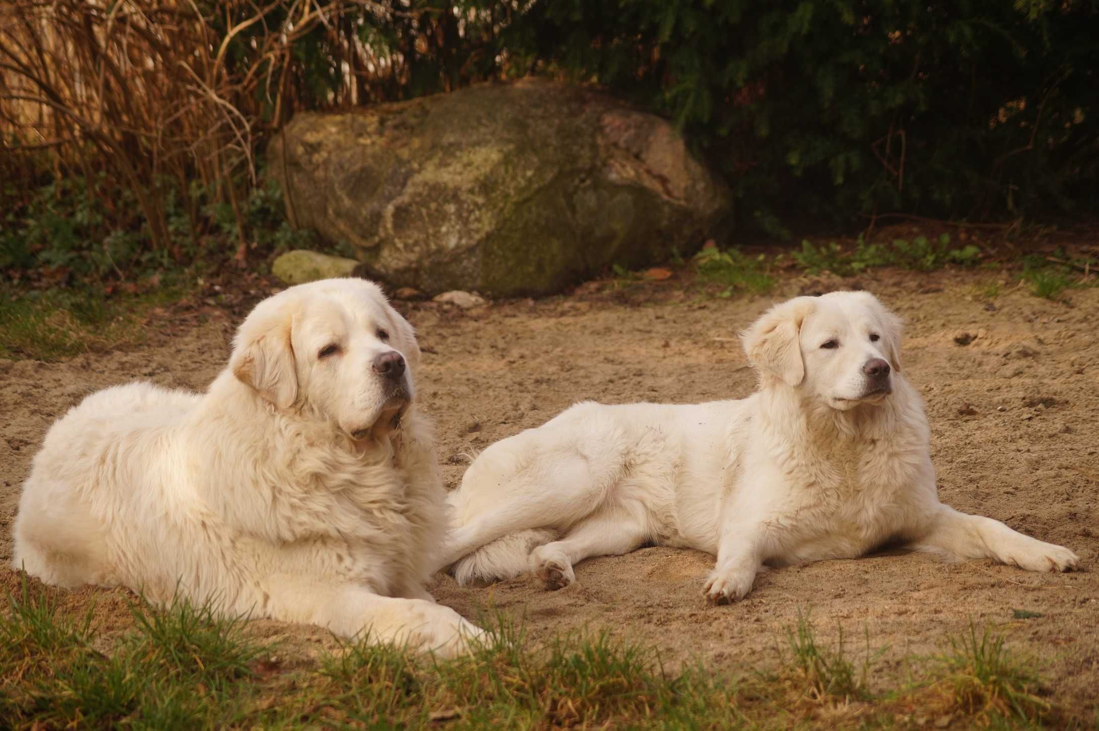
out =
{"type": "Polygon", "coordinates": [[[729,212],[667,121],[541,79],[299,114],[268,164],[295,225],[430,293],[559,291],[688,253],[729,212]]]}

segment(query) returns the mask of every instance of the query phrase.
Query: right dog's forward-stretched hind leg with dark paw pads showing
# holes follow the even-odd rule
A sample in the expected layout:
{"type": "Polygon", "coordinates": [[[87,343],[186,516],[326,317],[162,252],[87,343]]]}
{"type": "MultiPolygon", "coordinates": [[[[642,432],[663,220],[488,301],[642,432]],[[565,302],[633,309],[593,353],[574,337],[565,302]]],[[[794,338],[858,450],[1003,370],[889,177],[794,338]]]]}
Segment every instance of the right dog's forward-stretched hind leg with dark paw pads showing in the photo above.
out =
{"type": "Polygon", "coordinates": [[[576,580],[573,565],[590,556],[619,556],[641,547],[651,539],[644,520],[621,509],[600,510],[577,524],[560,541],[531,552],[531,571],[547,589],[560,589],[576,580]]]}

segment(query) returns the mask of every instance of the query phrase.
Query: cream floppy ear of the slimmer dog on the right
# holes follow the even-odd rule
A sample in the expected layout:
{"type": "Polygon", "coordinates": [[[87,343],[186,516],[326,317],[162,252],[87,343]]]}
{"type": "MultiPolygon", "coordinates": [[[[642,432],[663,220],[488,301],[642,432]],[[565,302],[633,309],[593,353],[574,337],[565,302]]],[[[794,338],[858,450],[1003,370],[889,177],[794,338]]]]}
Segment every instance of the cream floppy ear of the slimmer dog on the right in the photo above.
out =
{"type": "Polygon", "coordinates": [[[741,333],[748,363],[763,375],[799,385],[806,377],[799,342],[801,323],[814,307],[812,297],[796,297],[767,310],[741,333]]]}

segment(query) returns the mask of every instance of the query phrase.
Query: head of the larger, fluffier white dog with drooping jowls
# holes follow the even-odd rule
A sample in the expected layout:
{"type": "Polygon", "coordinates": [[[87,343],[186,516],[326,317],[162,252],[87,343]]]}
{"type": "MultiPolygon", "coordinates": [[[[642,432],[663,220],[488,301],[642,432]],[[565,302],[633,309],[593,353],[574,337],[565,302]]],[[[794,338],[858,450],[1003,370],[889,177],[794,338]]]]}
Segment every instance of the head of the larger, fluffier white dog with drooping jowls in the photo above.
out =
{"type": "Polygon", "coordinates": [[[236,333],[230,368],[279,410],[335,423],[355,440],[400,424],[415,396],[412,326],[365,279],[298,285],[259,302],[236,333]]]}

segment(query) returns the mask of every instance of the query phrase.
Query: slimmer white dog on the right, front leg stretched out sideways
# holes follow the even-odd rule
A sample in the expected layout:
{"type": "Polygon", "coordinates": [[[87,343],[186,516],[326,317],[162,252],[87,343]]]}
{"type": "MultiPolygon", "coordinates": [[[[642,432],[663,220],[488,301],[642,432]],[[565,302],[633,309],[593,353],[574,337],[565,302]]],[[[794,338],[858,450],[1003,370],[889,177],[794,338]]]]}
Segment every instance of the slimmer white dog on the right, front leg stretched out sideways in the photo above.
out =
{"type": "Polygon", "coordinates": [[[703,592],[748,594],[765,563],[886,543],[951,560],[1067,571],[1076,555],[942,505],[900,321],[866,292],[798,297],[745,333],[759,388],[691,406],[578,403],[491,445],[447,497],[458,583],[533,571],[548,588],[588,556],[645,544],[717,554],[703,592]]]}

